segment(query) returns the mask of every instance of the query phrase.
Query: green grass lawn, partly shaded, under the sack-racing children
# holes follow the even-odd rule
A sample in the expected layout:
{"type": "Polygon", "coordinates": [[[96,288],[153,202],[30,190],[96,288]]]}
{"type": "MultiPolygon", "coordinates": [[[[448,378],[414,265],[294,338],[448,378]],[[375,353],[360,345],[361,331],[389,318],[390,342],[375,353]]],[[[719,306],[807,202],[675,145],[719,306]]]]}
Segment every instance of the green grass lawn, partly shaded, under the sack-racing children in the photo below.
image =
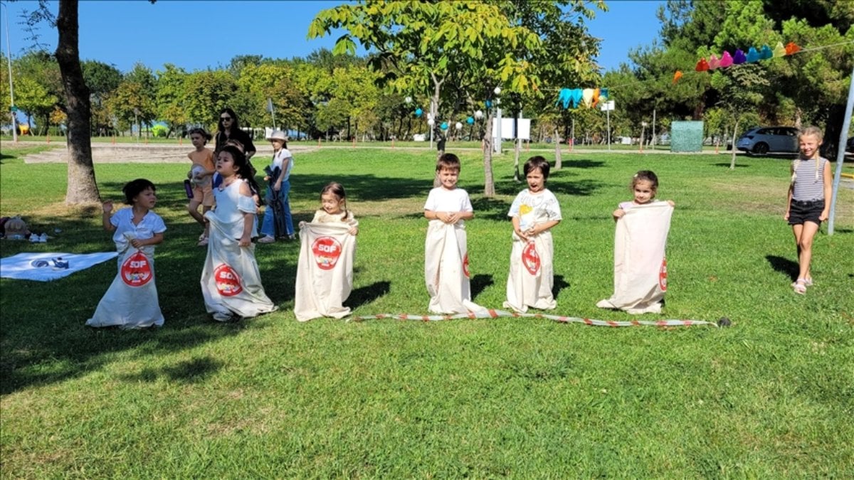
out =
{"type": "MultiPolygon", "coordinates": [[[[23,214],[55,238],[4,240],[2,255],[114,249],[97,206],[63,205],[64,164],[23,162],[40,148],[3,143],[0,214],[23,214]]],[[[499,195],[485,198],[477,152],[460,156],[476,210],[474,300],[500,307],[506,210],[522,185],[504,155],[499,195]]],[[[296,221],[310,220],[333,179],[360,220],[354,314],[426,313],[421,212],[433,158],[405,149],[296,157],[296,221]]],[[[96,167],[104,197],[120,200],[137,177],[158,185],[163,328],[84,327],[113,261],[52,283],[0,280],[2,477],[854,476],[854,190],[839,192],[834,236],[822,226],[816,237],[816,286],[796,296],[782,220],[787,160],[739,158],[730,171],[727,155],[564,156],[549,179],[564,215],[554,229],[556,313],[635,318],[594,305],[612,289],[611,211],[631,198],[631,175],[649,168],[659,198],[676,202],[670,288],[664,315],[637,318],[726,316],[730,328],[301,324],[296,243],[256,249],[279,311],[223,325],[202,303],[205,250],[184,211],[187,167],[96,167]]]]}

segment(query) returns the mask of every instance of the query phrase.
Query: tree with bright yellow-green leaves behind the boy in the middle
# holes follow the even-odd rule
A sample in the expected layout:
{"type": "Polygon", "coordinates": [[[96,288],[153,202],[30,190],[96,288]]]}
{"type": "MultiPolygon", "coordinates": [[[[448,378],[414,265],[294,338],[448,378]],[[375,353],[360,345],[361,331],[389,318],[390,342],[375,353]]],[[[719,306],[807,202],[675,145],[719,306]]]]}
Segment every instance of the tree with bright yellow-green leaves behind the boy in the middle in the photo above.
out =
{"type": "MultiPolygon", "coordinates": [[[[347,33],[336,42],[334,53],[354,52],[358,40],[375,52],[371,67],[396,91],[430,98],[438,155],[445,146],[439,120],[459,113],[465,105],[462,99],[489,100],[496,86],[521,92],[535,85],[530,64],[506,50],[520,44],[535,49],[540,39],[512,24],[492,3],[368,0],[320,12],[308,36],[322,37],[335,28],[347,33]],[[450,88],[443,88],[446,83],[450,88]]],[[[484,156],[484,178],[484,194],[494,195],[491,150],[484,156]]]]}

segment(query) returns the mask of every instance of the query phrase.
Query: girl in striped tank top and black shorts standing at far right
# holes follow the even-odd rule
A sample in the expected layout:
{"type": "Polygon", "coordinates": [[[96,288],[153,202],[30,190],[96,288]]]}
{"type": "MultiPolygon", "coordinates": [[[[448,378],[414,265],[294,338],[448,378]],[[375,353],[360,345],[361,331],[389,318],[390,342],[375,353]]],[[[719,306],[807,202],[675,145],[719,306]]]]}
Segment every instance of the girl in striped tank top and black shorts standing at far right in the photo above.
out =
{"type": "Polygon", "coordinates": [[[798,135],[801,153],[792,162],[792,183],[789,184],[786,214],[783,215],[792,225],[798,247],[798,279],[792,284],[798,295],[804,295],[806,288],[812,285],[812,239],[830,213],[830,203],[825,199],[830,198],[833,185],[830,162],[818,152],[822,138],[822,131],[815,126],[806,127],[798,135]]]}

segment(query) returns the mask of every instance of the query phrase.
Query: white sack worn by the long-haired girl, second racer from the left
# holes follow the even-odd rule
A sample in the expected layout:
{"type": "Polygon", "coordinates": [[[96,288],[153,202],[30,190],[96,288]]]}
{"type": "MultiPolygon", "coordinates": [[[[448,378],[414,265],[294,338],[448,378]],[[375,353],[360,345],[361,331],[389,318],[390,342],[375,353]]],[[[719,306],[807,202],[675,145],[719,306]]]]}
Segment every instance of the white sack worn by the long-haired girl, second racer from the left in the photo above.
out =
{"type": "Polygon", "coordinates": [[[235,315],[251,318],[276,310],[261,285],[255,246],[241,247],[216,215],[210,222],[208,256],[202,269],[202,296],[213,319],[227,321],[235,315]]]}

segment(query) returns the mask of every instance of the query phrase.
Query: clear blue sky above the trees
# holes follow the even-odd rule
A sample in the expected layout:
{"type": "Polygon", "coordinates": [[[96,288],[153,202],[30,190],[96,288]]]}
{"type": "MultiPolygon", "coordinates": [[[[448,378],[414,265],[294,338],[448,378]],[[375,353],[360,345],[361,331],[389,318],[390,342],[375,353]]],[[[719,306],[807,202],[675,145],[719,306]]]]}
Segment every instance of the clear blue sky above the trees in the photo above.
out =
{"type": "MultiPolygon", "coordinates": [[[[2,44],[6,53],[6,20],[12,56],[32,48],[29,33],[20,24],[20,12],[35,9],[32,0],[3,2],[2,44]]],[[[237,55],[270,58],[307,56],[331,49],[335,36],[306,39],[308,24],[322,9],[340,1],[214,1],[181,0],[81,1],[79,3],[80,57],[113,64],[122,72],[142,62],[153,70],[173,63],[188,71],[225,66],[237,55]]],[[[602,39],[598,61],[605,69],[628,61],[629,50],[651,44],[658,37],[655,12],[663,1],[608,1],[608,12],[588,21],[590,32],[602,39]]],[[[58,3],[53,3],[56,13],[58,3]]],[[[56,48],[56,29],[43,25],[40,40],[56,48]]]]}

